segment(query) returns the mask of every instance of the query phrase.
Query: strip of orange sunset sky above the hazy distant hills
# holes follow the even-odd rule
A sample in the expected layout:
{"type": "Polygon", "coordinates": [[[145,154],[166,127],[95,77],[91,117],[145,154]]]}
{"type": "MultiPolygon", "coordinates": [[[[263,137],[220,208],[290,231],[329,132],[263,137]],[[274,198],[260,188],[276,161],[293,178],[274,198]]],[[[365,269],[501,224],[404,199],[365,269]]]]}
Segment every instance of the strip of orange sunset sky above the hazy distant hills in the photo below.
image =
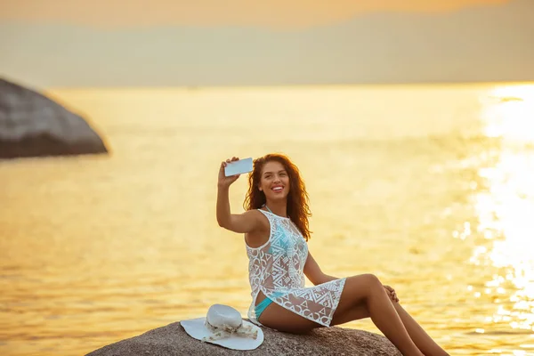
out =
{"type": "Polygon", "coordinates": [[[137,26],[257,26],[301,28],[369,12],[452,12],[509,0],[2,0],[2,20],[137,26]]]}

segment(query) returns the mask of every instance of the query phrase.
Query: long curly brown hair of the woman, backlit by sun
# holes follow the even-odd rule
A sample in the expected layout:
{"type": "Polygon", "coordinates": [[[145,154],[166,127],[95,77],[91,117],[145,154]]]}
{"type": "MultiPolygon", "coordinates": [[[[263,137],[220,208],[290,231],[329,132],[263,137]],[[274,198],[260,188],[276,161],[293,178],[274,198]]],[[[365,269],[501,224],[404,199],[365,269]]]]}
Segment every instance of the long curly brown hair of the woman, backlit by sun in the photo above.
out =
{"type": "Polygon", "coordinates": [[[245,210],[258,209],[266,203],[265,194],[258,187],[262,177],[263,165],[270,161],[279,162],[287,171],[290,184],[289,194],[287,195],[287,215],[307,241],[312,234],[308,227],[308,217],[312,216],[310,206],[308,206],[308,193],[298,168],[287,156],[271,153],[254,160],[254,169],[248,174],[248,191],[243,208],[245,210]]]}

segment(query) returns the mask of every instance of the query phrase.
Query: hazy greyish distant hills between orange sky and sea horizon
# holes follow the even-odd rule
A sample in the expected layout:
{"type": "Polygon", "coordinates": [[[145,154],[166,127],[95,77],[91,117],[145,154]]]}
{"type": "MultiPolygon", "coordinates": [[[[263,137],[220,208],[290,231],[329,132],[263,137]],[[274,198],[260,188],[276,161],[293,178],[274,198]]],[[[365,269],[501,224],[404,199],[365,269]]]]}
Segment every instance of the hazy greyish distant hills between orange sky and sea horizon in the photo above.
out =
{"type": "Polygon", "coordinates": [[[41,86],[534,80],[534,0],[305,30],[0,24],[0,76],[41,86]]]}

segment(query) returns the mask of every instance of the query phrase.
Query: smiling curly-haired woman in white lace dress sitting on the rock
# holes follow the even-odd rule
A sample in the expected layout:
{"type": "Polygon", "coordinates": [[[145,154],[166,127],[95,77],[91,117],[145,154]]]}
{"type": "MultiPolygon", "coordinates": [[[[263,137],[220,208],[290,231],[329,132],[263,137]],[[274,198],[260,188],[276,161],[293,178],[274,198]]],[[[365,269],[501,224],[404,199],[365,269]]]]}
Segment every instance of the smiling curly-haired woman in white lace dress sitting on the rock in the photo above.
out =
{"type": "Polygon", "coordinates": [[[448,355],[399,303],[392,287],[372,274],[344,279],[329,276],[308,252],[308,195],[298,168],[279,154],[254,161],[243,214],[231,214],[229,188],[221,164],[217,222],[244,233],[253,301],[248,318],[289,333],[330,327],[370,317],[403,355],[448,355]],[[314,287],[304,287],[304,275],[314,287]]]}

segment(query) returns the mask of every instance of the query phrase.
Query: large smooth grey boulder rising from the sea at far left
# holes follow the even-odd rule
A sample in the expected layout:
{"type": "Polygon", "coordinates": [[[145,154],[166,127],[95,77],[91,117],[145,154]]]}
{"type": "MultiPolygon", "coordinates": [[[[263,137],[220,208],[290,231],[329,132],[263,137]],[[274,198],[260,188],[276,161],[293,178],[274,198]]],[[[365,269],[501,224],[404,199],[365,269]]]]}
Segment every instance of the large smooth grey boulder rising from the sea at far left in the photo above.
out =
{"type": "Polygon", "coordinates": [[[0,158],[107,152],[83,117],[0,77],[0,158]]]}

